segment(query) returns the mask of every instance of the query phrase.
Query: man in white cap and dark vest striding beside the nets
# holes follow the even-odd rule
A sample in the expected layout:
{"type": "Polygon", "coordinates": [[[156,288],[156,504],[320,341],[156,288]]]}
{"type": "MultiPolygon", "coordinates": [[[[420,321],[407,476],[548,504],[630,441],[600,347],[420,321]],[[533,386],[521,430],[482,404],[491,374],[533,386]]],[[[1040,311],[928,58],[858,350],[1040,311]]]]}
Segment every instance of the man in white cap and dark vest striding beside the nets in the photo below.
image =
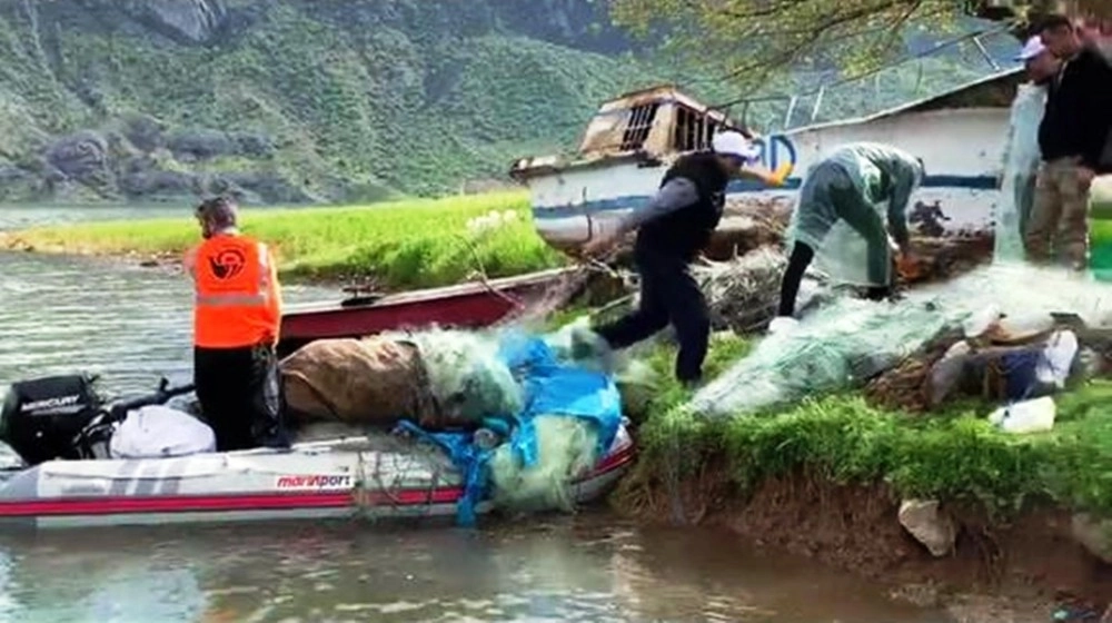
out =
{"type": "Polygon", "coordinates": [[[641,275],[637,310],[598,328],[612,348],[647,339],[671,323],[679,342],[676,378],[697,384],[703,375],[711,317],[689,265],[711,240],[725,207],[726,186],[734,176],[782,185],[787,169],[776,174],[749,168],[758,151],[736,131],[714,136],[711,151],[681,157],[664,174],[648,205],[632,210],[615,231],[592,240],[587,255],[609,250],[624,234],[637,229],[634,263],[641,275]]]}

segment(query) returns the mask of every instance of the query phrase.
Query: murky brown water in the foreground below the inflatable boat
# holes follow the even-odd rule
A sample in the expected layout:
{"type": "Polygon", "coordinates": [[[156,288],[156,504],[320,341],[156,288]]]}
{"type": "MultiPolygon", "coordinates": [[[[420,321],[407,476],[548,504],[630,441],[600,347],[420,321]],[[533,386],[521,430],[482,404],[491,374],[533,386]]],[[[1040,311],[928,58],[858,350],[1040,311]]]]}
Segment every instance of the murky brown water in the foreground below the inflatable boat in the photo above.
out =
{"type": "Polygon", "coordinates": [[[602,516],[477,533],[366,524],[40,533],[16,551],[0,558],[0,617],[12,622],[947,621],[719,534],[602,516]]]}

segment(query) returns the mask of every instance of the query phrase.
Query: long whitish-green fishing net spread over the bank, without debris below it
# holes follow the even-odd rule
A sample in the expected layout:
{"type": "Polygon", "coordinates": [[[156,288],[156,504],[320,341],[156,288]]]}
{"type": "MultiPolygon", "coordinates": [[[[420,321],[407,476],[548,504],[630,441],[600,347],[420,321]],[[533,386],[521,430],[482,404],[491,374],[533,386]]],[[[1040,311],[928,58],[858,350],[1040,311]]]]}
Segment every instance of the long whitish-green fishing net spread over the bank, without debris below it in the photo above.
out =
{"type": "Polygon", "coordinates": [[[687,407],[709,416],[739,415],[856,387],[990,308],[1017,325],[1069,312],[1090,327],[1108,327],[1112,286],[1064,269],[1003,264],[912,290],[895,303],[838,298],[791,330],[763,338],[687,407]]]}

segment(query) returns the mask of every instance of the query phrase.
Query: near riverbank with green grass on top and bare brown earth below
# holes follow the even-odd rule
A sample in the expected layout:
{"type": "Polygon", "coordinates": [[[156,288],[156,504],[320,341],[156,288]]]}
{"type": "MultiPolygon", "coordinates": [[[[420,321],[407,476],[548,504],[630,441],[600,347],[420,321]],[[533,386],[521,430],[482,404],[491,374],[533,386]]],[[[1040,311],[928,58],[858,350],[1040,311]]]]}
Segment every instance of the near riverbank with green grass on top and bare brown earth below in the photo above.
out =
{"type": "MultiPolygon", "coordinates": [[[[716,339],[707,376],[748,347],[716,339]]],[[[854,392],[709,419],[677,408],[689,394],[671,378],[673,357],[652,357],[663,388],[634,414],[639,461],[612,496],[620,513],[721,526],[890,584],[1051,601],[1064,591],[1106,607],[1110,567],[1072,522],[1112,517],[1112,382],[1055,396],[1054,429],[1029,435],[995,429],[995,405],[911,415],[854,392]],[[905,500],[940,502],[956,531],[950,554],[931,556],[901,525],[905,500]]]]}

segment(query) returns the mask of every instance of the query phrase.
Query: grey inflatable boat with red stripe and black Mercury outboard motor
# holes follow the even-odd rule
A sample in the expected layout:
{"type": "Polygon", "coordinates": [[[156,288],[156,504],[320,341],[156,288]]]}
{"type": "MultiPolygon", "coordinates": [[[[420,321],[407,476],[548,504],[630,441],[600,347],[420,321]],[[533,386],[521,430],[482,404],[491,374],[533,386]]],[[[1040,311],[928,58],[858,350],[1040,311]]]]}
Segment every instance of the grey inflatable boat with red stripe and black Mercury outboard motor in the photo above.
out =
{"type": "MultiPolygon", "coordinates": [[[[82,377],[42,380],[49,382],[48,397],[24,392],[4,405],[4,439],[24,465],[0,472],[0,530],[450,518],[466,497],[466,478],[448,453],[397,434],[281,449],[107,458],[113,423],[191,387],[169,388],[163,379],[150,396],[92,407],[82,377]],[[60,386],[71,389],[60,392],[60,386]]],[[[628,468],[633,452],[623,424],[594,468],[573,478],[574,501],[589,503],[604,495],[628,468]]],[[[488,500],[477,500],[473,510],[484,514],[492,508],[488,500]]]]}

